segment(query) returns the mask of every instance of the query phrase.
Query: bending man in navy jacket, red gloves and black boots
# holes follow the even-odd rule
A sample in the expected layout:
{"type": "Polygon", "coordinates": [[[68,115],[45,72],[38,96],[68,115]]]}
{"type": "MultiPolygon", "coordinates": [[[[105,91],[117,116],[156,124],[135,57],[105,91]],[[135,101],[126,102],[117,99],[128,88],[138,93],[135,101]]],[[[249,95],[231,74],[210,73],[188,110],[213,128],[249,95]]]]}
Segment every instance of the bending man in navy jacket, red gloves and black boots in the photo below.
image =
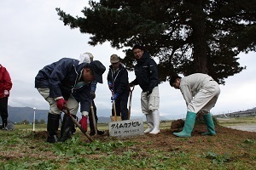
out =
{"type": "Polygon", "coordinates": [[[84,131],[87,131],[87,116],[90,111],[91,82],[102,83],[102,74],[106,68],[98,60],[79,62],[78,59],[63,58],[38,71],[35,77],[35,88],[49,103],[47,122],[47,142],[55,143],[71,138],[73,122],[66,116],[61,125],[61,139],[58,139],[61,112],[67,107],[72,116],[79,110],[82,119],[79,121],[84,131]]]}

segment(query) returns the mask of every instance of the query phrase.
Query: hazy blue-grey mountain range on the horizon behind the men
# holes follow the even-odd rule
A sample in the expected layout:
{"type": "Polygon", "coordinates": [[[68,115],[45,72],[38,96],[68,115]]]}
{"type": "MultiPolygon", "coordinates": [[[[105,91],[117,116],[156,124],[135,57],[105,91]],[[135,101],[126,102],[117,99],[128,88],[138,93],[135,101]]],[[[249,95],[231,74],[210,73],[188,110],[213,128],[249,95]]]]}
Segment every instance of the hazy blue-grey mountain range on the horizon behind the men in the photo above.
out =
{"type": "MultiPolygon", "coordinates": [[[[8,106],[9,110],[9,122],[23,122],[27,120],[28,122],[33,122],[34,117],[34,110],[31,107],[11,107],[8,106]]],[[[43,119],[45,122],[47,122],[47,116],[48,116],[49,110],[36,110],[35,111],[35,119],[37,119],[39,122],[43,119]]],[[[78,113],[77,116],[79,119],[81,118],[81,114],[78,113]]],[[[101,123],[108,123],[110,122],[110,116],[111,116],[111,110],[97,110],[97,116],[98,116],[98,122],[101,123]]],[[[143,119],[143,122],[146,121],[146,116],[131,116],[131,119],[143,119]]],[[[160,116],[160,120],[168,120],[166,117],[160,116]]]]}

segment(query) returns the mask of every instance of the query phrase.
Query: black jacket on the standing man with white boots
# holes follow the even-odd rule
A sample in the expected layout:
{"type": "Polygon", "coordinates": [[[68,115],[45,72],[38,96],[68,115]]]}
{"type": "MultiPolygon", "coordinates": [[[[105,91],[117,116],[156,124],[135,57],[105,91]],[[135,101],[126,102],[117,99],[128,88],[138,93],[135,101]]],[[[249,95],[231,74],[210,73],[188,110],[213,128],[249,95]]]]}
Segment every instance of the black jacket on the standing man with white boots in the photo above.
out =
{"type": "Polygon", "coordinates": [[[158,86],[158,69],[154,59],[150,58],[148,52],[144,52],[141,59],[137,59],[134,67],[136,79],[132,81],[134,85],[139,85],[143,92],[152,91],[158,86]]]}

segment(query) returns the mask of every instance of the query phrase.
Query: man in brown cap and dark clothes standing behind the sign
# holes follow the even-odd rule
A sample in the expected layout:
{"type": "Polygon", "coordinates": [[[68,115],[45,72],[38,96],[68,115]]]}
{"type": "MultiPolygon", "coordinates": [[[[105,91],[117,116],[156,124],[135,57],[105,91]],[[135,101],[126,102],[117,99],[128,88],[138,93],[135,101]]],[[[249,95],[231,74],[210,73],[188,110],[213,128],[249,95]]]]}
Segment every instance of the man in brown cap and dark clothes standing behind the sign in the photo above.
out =
{"type": "MultiPolygon", "coordinates": [[[[109,71],[108,71],[108,88],[113,92],[116,115],[121,116],[122,121],[128,120],[127,103],[130,93],[128,71],[125,69],[118,55],[113,54],[110,56],[109,71]]],[[[112,116],[113,116],[112,109],[112,116]]]]}

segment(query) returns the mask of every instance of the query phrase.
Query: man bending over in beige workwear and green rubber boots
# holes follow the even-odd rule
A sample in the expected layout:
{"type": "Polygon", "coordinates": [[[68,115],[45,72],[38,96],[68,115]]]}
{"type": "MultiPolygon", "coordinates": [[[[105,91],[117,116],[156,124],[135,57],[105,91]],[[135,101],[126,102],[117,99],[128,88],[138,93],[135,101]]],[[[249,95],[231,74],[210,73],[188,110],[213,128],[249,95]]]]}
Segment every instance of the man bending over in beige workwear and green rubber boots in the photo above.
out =
{"type": "Polygon", "coordinates": [[[218,82],[215,82],[207,74],[195,73],[183,78],[173,75],[170,79],[170,85],[173,88],[180,89],[187,105],[187,116],[183,130],[173,134],[177,137],[191,137],[196,114],[203,114],[203,119],[207,124],[207,132],[202,133],[202,135],[215,135],[210,110],[216,104],[220,94],[218,82]]]}

